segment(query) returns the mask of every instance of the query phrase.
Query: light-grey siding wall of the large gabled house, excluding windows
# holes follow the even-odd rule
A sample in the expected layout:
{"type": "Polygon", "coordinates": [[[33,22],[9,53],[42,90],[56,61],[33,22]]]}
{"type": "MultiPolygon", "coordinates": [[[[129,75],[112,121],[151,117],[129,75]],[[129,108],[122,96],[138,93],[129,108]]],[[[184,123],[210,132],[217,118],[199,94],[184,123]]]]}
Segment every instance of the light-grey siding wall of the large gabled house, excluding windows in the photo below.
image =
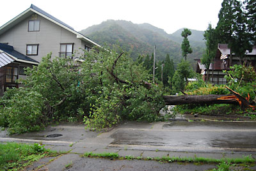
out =
{"type": "Polygon", "coordinates": [[[38,55],[29,56],[38,62],[42,60],[42,57],[47,56],[49,52],[52,52],[52,57],[59,56],[60,43],[74,43],[74,52],[79,48],[84,48],[85,43],[83,42],[82,45],[82,41],[76,38],[76,34],[40,15],[37,15],[38,19],[36,19],[40,20],[40,31],[29,32],[28,21],[32,20],[31,17],[32,15],[1,34],[0,43],[8,43],[8,45],[12,45],[15,50],[24,55],[26,55],[26,45],[39,44],[38,55]]]}

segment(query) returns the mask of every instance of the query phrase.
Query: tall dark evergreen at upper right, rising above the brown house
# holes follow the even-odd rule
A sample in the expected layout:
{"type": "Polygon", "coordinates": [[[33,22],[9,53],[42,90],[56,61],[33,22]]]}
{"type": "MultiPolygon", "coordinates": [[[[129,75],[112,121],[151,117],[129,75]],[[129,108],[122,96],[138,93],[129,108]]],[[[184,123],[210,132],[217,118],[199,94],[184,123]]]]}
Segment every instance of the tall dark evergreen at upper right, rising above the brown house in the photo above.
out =
{"type": "Polygon", "coordinates": [[[230,65],[232,65],[232,52],[243,62],[246,50],[252,49],[250,34],[242,4],[237,0],[224,0],[218,15],[219,22],[216,27],[219,43],[227,43],[230,48],[230,65]]]}

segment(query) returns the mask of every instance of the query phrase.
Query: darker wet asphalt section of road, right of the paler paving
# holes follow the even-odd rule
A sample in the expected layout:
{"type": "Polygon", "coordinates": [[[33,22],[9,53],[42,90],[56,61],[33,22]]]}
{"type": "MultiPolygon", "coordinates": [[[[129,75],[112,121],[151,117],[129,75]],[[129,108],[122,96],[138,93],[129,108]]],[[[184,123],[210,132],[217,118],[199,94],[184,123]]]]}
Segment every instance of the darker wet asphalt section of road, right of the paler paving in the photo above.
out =
{"type": "Polygon", "coordinates": [[[166,123],[159,128],[136,127],[136,123],[129,123],[119,128],[111,135],[115,139],[111,146],[151,145],[178,151],[256,151],[256,123],[195,121],[166,123]]]}

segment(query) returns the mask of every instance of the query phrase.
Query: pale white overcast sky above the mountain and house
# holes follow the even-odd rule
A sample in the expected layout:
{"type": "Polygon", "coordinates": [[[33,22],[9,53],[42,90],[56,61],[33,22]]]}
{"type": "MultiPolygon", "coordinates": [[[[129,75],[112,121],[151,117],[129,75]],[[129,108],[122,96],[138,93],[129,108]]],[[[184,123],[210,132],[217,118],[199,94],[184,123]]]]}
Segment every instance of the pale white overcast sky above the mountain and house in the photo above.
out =
{"type": "Polygon", "coordinates": [[[223,0],[8,0],[1,1],[0,26],[13,19],[31,4],[65,22],[76,31],[101,22],[127,20],[149,23],[173,33],[188,27],[205,31],[214,27],[223,0]]]}

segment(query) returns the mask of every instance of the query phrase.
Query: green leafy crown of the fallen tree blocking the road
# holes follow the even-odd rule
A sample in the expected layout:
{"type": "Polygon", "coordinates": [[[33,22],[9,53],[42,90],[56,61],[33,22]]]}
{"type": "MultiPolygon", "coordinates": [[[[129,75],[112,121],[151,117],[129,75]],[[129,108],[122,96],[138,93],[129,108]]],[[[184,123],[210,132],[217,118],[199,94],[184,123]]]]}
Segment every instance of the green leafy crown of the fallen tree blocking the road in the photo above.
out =
{"type": "Polygon", "coordinates": [[[147,84],[142,64],[118,48],[84,52],[75,60],[49,54],[26,73],[26,87],[8,89],[1,98],[0,125],[10,133],[35,131],[61,119],[84,118],[90,128],[124,120],[152,122],[164,107],[159,86],[147,84]]]}

